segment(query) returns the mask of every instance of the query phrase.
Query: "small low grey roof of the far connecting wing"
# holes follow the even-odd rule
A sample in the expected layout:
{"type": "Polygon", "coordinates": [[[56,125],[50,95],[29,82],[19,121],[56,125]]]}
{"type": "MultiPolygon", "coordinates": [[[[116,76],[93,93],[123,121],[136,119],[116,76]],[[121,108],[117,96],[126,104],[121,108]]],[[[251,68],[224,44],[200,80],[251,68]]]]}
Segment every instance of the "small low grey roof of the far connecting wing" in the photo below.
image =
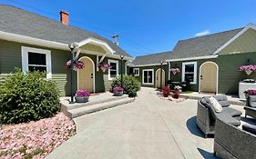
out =
{"type": "Polygon", "coordinates": [[[159,65],[162,62],[166,62],[165,60],[168,59],[171,51],[151,54],[151,55],[140,55],[137,56],[132,62],[131,65],[138,66],[138,65],[159,65]]]}

